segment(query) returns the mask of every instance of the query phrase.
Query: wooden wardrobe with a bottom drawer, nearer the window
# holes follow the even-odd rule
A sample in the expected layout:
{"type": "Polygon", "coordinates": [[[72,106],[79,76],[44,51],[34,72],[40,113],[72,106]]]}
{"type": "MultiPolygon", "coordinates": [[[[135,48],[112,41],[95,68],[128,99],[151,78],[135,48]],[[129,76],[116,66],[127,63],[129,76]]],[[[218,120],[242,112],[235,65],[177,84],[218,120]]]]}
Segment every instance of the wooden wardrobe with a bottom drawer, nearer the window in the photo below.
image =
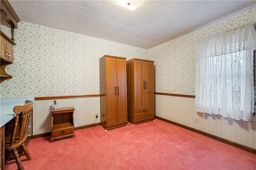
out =
{"type": "Polygon", "coordinates": [[[134,125],[154,117],[154,61],[127,61],[128,121],[134,125]]]}

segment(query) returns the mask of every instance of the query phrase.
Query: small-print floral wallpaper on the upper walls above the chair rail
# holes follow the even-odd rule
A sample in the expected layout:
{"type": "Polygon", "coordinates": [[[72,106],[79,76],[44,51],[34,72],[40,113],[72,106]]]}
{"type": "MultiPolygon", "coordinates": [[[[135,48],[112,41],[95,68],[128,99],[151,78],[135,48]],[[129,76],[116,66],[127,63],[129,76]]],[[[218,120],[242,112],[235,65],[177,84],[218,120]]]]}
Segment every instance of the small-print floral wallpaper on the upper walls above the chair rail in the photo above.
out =
{"type": "Polygon", "coordinates": [[[155,92],[195,95],[197,42],[248,23],[256,23],[256,8],[141,49],[21,21],[14,63],[6,67],[13,78],[0,84],[1,98],[99,94],[103,55],[153,60],[155,92]]]}

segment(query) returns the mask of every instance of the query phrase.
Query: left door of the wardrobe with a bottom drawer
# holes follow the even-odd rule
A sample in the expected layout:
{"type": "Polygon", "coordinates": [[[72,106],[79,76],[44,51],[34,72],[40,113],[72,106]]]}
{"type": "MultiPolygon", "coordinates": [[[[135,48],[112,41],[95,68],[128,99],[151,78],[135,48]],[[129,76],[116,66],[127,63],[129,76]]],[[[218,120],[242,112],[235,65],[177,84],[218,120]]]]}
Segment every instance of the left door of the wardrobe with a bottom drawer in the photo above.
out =
{"type": "Polygon", "coordinates": [[[144,62],[134,60],[134,110],[144,109],[144,62]]]}

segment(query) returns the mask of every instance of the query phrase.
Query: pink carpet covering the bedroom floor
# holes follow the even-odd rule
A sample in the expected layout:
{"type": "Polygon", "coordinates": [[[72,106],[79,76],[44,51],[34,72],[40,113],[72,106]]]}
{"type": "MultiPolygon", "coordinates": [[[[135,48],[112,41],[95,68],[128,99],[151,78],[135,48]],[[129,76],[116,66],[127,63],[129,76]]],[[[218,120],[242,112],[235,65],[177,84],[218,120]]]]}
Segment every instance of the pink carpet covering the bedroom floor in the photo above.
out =
{"type": "MultiPolygon", "coordinates": [[[[91,127],[49,141],[30,140],[32,160],[21,157],[25,170],[256,170],[256,154],[159,119],[109,131],[91,127]]],[[[14,169],[9,161],[6,170],[14,169]]]]}

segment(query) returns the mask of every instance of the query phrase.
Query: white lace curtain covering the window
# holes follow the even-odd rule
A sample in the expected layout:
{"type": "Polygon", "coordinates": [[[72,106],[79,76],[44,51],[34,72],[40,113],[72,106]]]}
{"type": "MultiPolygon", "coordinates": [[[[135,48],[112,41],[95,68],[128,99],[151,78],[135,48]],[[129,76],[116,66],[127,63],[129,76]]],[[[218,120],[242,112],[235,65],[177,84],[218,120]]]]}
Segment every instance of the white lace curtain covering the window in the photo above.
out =
{"type": "Polygon", "coordinates": [[[244,27],[198,43],[196,111],[251,121],[256,32],[244,27]]]}

